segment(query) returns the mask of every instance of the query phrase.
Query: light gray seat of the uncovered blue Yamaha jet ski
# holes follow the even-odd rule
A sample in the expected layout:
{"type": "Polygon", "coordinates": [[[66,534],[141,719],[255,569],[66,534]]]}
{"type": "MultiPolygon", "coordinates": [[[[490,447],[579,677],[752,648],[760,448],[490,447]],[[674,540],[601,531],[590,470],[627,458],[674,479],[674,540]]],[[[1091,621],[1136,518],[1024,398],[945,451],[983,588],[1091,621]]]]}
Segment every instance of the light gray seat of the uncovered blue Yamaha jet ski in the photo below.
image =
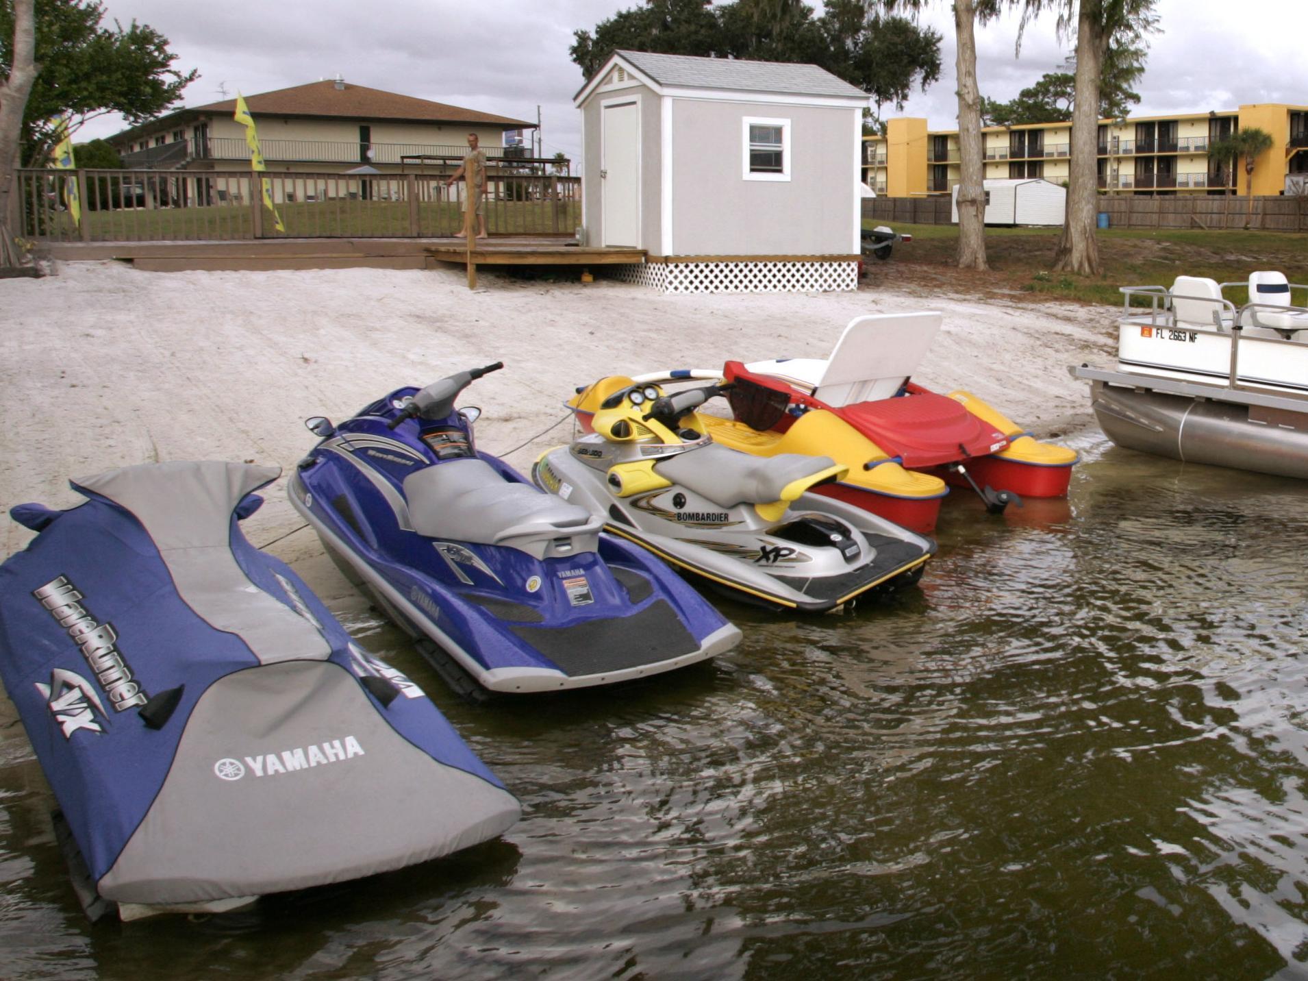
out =
{"type": "Polygon", "coordinates": [[[511,545],[549,557],[555,539],[572,539],[564,555],[594,549],[603,521],[528,484],[505,480],[485,460],[447,460],[404,479],[409,522],[426,538],[511,545]],[[578,542],[589,536],[591,542],[578,542]]]}

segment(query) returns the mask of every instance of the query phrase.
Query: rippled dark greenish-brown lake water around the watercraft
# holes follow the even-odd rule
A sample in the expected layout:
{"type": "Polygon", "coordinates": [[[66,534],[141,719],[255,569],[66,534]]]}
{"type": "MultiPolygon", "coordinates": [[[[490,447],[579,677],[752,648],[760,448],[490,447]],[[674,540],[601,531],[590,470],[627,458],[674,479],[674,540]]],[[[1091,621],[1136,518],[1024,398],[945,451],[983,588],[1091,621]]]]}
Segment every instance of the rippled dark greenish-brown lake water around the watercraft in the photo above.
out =
{"type": "Polygon", "coordinates": [[[464,705],[343,608],[525,816],[252,913],[88,923],[7,704],[0,976],[1308,974],[1308,488],[1078,449],[1069,501],[955,490],[917,589],[723,606],[735,653],[619,691],[464,705]]]}

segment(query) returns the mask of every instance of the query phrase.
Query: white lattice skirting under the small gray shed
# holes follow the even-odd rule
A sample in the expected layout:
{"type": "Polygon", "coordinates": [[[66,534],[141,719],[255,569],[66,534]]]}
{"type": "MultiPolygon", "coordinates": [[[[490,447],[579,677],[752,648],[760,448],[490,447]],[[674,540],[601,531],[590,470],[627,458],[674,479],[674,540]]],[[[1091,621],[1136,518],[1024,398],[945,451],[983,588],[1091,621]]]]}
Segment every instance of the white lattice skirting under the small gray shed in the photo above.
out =
{"type": "Polygon", "coordinates": [[[858,289],[857,262],[705,262],[610,266],[623,283],[659,293],[832,293],[858,289]]]}

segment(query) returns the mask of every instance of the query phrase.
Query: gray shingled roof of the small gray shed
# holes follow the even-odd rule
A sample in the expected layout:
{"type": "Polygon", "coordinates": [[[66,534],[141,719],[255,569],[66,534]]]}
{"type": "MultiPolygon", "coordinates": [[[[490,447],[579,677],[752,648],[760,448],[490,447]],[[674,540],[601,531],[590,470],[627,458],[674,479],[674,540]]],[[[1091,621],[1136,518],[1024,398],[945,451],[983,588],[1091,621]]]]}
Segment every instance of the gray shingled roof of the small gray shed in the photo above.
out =
{"type": "Polygon", "coordinates": [[[687,89],[735,89],[783,95],[838,95],[867,98],[867,93],[825,68],[785,61],[746,61],[735,58],[658,55],[615,51],[659,85],[687,89]]]}

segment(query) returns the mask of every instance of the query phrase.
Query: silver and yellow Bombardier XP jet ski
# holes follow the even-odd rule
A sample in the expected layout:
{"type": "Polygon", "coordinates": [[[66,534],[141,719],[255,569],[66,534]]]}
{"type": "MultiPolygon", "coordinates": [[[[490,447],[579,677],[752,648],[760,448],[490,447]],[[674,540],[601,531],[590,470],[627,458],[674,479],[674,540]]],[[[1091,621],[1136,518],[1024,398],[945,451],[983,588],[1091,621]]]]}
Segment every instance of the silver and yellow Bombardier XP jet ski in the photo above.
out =
{"type": "Polygon", "coordinates": [[[606,528],[736,598],[821,612],[912,585],[935,543],[810,493],[848,468],[829,456],[752,456],[713,442],[695,411],[721,386],[674,395],[630,378],[582,392],[591,433],[542,455],[538,485],[602,515],[606,528]]]}

